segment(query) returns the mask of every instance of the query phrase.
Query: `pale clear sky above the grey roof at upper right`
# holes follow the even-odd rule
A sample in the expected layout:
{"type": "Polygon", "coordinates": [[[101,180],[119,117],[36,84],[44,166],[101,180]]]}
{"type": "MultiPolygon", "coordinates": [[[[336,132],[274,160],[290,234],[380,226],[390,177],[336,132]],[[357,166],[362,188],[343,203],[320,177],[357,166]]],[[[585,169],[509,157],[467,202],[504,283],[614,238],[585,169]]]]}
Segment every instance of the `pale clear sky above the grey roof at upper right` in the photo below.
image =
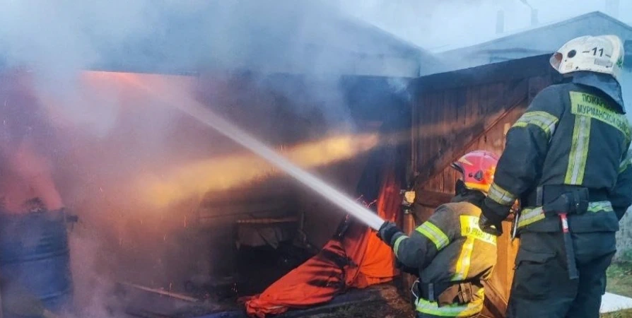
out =
{"type": "Polygon", "coordinates": [[[632,23],[632,0],[344,0],[346,13],[373,23],[424,49],[440,51],[496,37],[496,13],[504,11],[505,33],[529,28],[531,11],[540,24],[602,11],[632,23]],[[527,1],[525,4],[523,1],[527,1]]]}

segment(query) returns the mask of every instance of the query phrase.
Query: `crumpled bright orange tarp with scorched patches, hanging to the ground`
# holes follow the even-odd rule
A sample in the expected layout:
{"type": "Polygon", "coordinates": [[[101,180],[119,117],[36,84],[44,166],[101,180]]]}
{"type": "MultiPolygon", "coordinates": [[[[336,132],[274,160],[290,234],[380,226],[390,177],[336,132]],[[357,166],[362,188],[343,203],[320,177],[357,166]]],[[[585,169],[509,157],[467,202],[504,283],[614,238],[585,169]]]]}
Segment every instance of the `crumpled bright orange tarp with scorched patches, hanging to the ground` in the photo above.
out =
{"type": "MultiPolygon", "coordinates": [[[[378,196],[378,215],[394,220],[401,200],[399,185],[390,170],[378,196]]],[[[334,237],[315,257],[270,285],[262,294],[247,299],[245,307],[250,316],[264,318],[289,308],[329,302],[346,288],[385,283],[397,274],[390,247],[375,236],[374,230],[353,222],[343,237],[334,237]]]]}

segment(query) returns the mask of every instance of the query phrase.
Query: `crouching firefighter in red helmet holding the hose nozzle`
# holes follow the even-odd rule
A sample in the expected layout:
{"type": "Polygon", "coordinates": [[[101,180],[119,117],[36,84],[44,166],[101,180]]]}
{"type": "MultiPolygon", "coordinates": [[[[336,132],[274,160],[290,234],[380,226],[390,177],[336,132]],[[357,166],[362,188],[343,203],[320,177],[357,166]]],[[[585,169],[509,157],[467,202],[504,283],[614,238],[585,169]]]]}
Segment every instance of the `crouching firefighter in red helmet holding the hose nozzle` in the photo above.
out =
{"type": "Polygon", "coordinates": [[[476,317],[486,281],[496,264],[496,237],[479,228],[479,216],[498,157],[467,153],[452,167],[460,172],[456,196],[409,236],[387,222],[378,236],[404,269],[414,269],[417,317],[476,317]]]}

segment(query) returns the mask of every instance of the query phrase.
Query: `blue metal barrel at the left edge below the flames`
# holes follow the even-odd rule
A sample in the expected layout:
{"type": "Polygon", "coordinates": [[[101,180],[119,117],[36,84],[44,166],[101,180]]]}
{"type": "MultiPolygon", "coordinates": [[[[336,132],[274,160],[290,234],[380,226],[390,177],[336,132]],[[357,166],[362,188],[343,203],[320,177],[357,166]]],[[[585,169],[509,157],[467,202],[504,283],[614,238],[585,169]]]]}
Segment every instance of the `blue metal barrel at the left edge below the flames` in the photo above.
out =
{"type": "Polygon", "coordinates": [[[63,211],[0,213],[0,278],[4,317],[15,314],[8,308],[11,299],[17,307],[40,300],[52,312],[70,309],[73,283],[63,211]]]}

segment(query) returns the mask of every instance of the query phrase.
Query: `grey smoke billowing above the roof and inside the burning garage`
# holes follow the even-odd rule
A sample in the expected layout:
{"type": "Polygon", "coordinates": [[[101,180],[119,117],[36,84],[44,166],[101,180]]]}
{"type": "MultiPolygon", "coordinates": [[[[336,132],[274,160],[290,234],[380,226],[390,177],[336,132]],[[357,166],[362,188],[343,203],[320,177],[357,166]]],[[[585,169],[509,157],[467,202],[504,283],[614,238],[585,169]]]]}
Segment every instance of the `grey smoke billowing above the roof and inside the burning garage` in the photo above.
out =
{"type": "MultiPolygon", "coordinates": [[[[177,290],[187,275],[209,271],[200,259],[223,258],[187,239],[199,194],[156,208],[132,181],[241,151],[128,85],[126,74],[107,71],[172,73],[163,89],[186,92],[282,148],[358,132],[341,75],[366,54],[389,50],[353,45],[355,33],[322,23],[344,25],[343,9],[316,1],[1,4],[0,156],[6,162],[28,148],[45,158],[47,171],[37,173],[54,179],[46,191],[78,214],[71,259],[81,317],[118,317],[107,309],[116,281],[177,290]]],[[[151,76],[140,84],[151,86],[151,76]]],[[[391,84],[402,93],[401,81],[391,84]]],[[[3,177],[7,169],[0,167],[3,177]]]]}

